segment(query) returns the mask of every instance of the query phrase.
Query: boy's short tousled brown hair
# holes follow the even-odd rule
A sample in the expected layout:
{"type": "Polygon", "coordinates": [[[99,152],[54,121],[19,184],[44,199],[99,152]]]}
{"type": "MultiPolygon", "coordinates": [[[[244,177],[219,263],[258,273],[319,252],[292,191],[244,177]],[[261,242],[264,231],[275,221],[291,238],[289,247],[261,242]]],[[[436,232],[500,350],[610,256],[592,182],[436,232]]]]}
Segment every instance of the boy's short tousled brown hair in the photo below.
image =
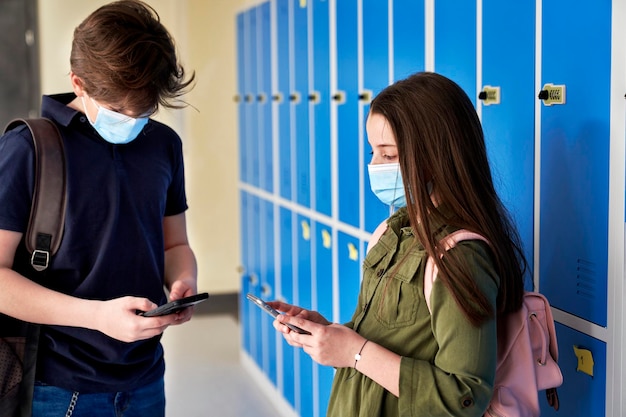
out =
{"type": "Polygon", "coordinates": [[[185,107],[178,98],[195,78],[185,78],[172,37],[139,0],[109,3],[89,15],[74,30],[70,64],[89,96],[137,114],[185,107]]]}

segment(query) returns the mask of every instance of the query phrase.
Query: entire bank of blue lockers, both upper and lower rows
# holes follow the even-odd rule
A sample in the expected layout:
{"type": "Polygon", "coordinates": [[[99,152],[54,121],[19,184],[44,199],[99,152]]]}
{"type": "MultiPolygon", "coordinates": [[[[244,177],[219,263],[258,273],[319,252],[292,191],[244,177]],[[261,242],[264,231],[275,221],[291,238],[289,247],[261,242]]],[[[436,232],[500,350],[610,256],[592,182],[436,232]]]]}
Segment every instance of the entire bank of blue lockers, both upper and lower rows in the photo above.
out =
{"type": "MultiPolygon", "coordinates": [[[[369,191],[368,102],[431,70],[474,100],[540,291],[606,327],[611,15],[609,0],[272,0],[239,14],[242,294],[350,318],[388,215],[369,191]]],[[[332,371],[257,310],[242,300],[244,351],[300,415],[323,415],[332,371]]],[[[580,330],[557,324],[556,415],[605,414],[606,344],[580,330]]]]}

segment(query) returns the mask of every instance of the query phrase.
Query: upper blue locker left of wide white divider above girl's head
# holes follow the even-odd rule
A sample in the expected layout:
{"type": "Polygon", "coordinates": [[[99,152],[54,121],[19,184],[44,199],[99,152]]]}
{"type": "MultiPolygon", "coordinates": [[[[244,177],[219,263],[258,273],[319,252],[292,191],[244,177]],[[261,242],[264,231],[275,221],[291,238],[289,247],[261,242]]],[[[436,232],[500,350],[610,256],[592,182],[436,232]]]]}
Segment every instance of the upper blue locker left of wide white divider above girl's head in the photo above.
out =
{"type": "Polygon", "coordinates": [[[393,80],[402,80],[425,69],[425,21],[423,0],[393,2],[393,80]]]}

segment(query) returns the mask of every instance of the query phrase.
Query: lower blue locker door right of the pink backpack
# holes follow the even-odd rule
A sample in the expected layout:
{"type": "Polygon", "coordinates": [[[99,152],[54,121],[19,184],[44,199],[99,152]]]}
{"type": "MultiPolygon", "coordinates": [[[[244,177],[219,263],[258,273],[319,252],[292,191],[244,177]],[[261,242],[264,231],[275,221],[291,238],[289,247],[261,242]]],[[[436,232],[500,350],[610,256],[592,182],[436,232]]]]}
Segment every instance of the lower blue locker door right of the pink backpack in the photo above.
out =
{"type": "Polygon", "coordinates": [[[605,416],[606,344],[559,323],[556,335],[563,373],[563,385],[557,389],[561,407],[555,411],[540,392],[541,417],[605,416]]]}

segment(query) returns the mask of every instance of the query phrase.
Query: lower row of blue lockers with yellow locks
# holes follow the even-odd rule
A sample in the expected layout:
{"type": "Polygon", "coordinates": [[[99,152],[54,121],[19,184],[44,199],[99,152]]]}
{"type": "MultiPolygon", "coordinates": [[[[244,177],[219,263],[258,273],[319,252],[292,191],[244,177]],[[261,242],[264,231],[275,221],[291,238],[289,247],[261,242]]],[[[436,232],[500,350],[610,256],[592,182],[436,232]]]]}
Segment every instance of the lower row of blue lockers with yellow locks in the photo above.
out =
{"type": "MultiPolygon", "coordinates": [[[[333,369],[287,345],[272,327],[272,318],[245,294],[282,299],[347,322],[356,307],[366,242],[312,219],[306,210],[294,211],[253,192],[241,192],[241,208],[246,265],[240,300],[242,348],[298,415],[323,416],[333,369]]],[[[542,416],[605,415],[605,344],[561,324],[557,338],[564,375],[561,409],[554,412],[541,396],[542,416]]]]}

